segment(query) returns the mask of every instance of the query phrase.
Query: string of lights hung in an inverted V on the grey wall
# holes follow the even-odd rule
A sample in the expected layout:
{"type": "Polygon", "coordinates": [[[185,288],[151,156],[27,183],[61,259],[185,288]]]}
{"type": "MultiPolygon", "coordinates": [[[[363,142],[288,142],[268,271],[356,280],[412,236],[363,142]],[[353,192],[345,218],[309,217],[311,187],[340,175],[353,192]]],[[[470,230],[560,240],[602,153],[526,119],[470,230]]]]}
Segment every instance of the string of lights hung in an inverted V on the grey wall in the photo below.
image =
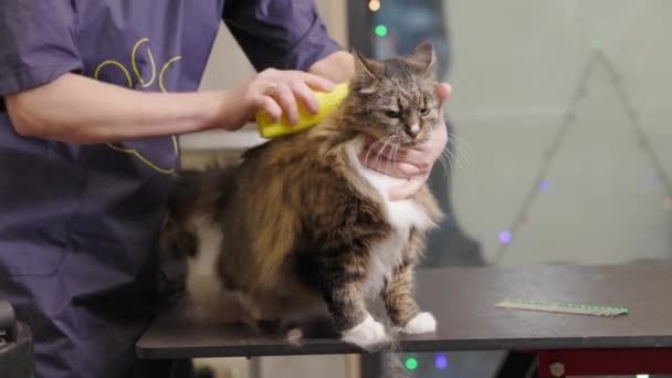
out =
{"type": "Polygon", "coordinates": [[[527,190],[527,195],[523,199],[518,212],[514,217],[510,228],[507,231],[500,232],[500,246],[495,251],[494,258],[492,260],[493,263],[498,263],[502,261],[506,252],[508,251],[508,245],[513,241],[516,231],[525,223],[527,219],[527,214],[529,213],[531,207],[534,204],[536,197],[539,191],[547,191],[550,188],[550,183],[546,180],[547,171],[553,162],[553,159],[556,157],[557,151],[560,148],[560,144],[567,134],[567,129],[571,125],[571,123],[576,118],[576,111],[578,108],[580,99],[586,95],[587,83],[590,74],[595,66],[600,63],[601,66],[607,71],[607,76],[611,82],[613,90],[620,101],[621,107],[626,111],[627,119],[634,130],[637,145],[641,148],[641,150],[645,154],[645,156],[651,161],[653,168],[653,177],[655,177],[657,182],[660,186],[664,187],[664,191],[666,193],[663,200],[663,208],[668,211],[672,211],[672,180],[666,175],[663,169],[663,165],[661,164],[660,158],[658,157],[655,149],[649,143],[649,137],[645,130],[639,123],[639,117],[630,98],[628,97],[627,91],[622,87],[622,83],[620,80],[620,75],[617,73],[616,69],[609,61],[608,56],[602,51],[602,41],[599,39],[594,39],[591,41],[592,45],[592,55],[590,60],[584,66],[584,71],[581,72],[581,76],[578,81],[578,86],[573,97],[569,99],[569,105],[565,115],[563,116],[560,124],[557,128],[555,136],[550,141],[550,146],[546,148],[546,154],[544,154],[542,166],[537,170],[536,179],[533,181],[533,187],[527,190]]]}

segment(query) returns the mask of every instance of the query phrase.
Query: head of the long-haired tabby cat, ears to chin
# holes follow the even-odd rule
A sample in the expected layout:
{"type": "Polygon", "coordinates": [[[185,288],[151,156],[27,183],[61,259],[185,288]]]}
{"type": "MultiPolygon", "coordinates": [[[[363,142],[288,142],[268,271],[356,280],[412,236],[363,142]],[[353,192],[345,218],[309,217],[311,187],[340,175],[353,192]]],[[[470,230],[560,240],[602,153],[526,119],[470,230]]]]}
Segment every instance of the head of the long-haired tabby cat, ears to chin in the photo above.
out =
{"type": "Polygon", "coordinates": [[[355,76],[344,108],[347,127],[403,147],[427,141],[442,120],[432,44],[382,61],[354,55],[355,76]]]}

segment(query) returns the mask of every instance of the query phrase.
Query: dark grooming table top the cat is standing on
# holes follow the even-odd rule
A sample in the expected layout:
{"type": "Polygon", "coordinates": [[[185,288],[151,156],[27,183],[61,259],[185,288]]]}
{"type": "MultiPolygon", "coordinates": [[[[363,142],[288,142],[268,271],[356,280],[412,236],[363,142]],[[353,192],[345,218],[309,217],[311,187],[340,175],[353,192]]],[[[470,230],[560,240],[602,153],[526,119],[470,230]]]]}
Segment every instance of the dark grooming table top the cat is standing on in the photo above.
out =
{"type": "MultiPolygon", "coordinates": [[[[434,314],[434,334],[403,337],[406,351],[672,347],[672,265],[536,265],[427,269],[417,298],[434,314]],[[504,298],[624,306],[617,317],[496,308],[504,298]]],[[[136,345],[140,358],[360,353],[337,339],[294,346],[237,326],[206,326],[170,315],[136,345]]]]}

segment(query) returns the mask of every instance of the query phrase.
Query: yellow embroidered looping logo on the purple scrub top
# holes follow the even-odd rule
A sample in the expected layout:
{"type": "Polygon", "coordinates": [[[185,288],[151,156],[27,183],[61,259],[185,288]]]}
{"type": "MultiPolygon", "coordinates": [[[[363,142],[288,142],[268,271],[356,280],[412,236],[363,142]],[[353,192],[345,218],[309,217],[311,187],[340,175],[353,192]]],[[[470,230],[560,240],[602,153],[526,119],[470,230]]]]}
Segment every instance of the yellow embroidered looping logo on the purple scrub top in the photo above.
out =
{"type": "MultiPolygon", "coordinates": [[[[149,42],[149,39],[144,38],[144,39],[139,40],[138,42],[136,42],[136,44],[133,46],[133,50],[130,51],[130,65],[132,65],[133,74],[135,75],[135,78],[136,78],[135,82],[134,82],[130,71],[126,66],[124,66],[124,64],[122,64],[120,62],[115,61],[115,60],[107,60],[107,61],[98,64],[98,66],[96,67],[96,71],[94,72],[94,78],[98,80],[98,76],[103,69],[105,69],[107,66],[114,66],[122,71],[122,73],[124,74],[124,77],[126,78],[126,84],[129,90],[133,90],[135,87],[136,83],[139,84],[141,87],[146,88],[146,87],[151,86],[156,82],[159,90],[162,93],[167,93],[168,91],[166,90],[166,86],[164,84],[164,77],[166,75],[166,72],[170,69],[170,66],[174,63],[181,60],[182,56],[176,55],[176,56],[170,57],[166,63],[164,63],[161,65],[161,69],[159,70],[158,77],[157,77],[157,65],[154,60],[154,55],[151,54],[151,50],[149,48],[147,48],[147,57],[148,57],[149,66],[151,67],[151,74],[147,80],[145,80],[143,77],[143,75],[140,74],[140,71],[139,71],[138,64],[137,64],[137,60],[136,60],[138,48],[145,42],[149,42]]],[[[174,149],[175,156],[178,157],[179,148],[178,148],[177,137],[174,135],[174,136],[171,136],[171,139],[172,139],[172,149],[174,149]]],[[[119,145],[113,144],[113,143],[107,143],[106,145],[116,151],[135,156],[140,161],[143,161],[148,167],[150,167],[151,169],[154,169],[158,172],[161,172],[165,175],[170,175],[170,174],[175,172],[175,168],[161,168],[157,164],[153,162],[150,159],[145,157],[143,154],[140,154],[137,149],[123,147],[123,146],[119,146],[119,145]]]]}

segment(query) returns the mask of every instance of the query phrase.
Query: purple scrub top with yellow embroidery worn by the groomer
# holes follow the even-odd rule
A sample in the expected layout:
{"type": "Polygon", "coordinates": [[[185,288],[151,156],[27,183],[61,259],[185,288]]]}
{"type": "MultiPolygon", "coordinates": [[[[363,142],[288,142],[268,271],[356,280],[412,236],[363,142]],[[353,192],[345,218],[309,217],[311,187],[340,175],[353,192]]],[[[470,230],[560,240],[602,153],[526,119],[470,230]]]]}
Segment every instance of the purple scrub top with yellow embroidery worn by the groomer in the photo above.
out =
{"type": "MultiPolygon", "coordinates": [[[[312,1],[2,0],[0,97],[66,72],[143,92],[198,88],[220,21],[256,70],[340,48],[312,1]]],[[[19,136],[0,102],[0,300],[35,334],[38,377],[139,377],[160,286],[156,239],[176,137],[19,136]]]]}

